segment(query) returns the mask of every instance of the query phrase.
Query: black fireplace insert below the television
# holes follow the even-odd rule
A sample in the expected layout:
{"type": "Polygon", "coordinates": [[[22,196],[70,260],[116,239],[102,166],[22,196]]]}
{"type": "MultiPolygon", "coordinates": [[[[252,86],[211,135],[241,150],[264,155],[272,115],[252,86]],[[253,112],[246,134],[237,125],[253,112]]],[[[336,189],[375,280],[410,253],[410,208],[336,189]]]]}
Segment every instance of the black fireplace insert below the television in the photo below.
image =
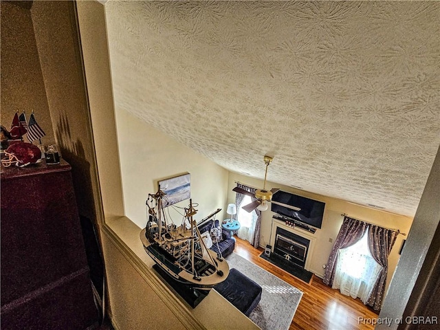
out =
{"type": "Polygon", "coordinates": [[[304,268],[309,245],[309,239],[276,227],[274,253],[287,261],[304,268]]]}

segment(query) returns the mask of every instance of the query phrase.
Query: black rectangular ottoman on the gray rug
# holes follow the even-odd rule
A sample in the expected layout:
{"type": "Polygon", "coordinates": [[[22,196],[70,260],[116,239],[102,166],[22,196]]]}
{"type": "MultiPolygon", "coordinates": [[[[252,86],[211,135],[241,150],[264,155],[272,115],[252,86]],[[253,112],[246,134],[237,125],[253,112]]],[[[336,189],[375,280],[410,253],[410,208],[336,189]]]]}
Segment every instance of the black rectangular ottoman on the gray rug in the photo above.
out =
{"type": "Polygon", "coordinates": [[[226,300],[245,316],[249,316],[261,299],[261,286],[235,268],[229,270],[228,278],[214,286],[226,300]]]}

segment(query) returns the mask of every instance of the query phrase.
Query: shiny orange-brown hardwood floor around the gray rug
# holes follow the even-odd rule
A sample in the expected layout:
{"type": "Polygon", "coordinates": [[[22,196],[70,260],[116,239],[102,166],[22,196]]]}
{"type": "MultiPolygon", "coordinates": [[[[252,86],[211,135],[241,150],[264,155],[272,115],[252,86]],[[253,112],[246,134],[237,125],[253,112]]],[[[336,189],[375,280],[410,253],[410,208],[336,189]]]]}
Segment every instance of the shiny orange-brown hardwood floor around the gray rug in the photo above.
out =
{"type": "Polygon", "coordinates": [[[377,318],[375,311],[364,305],[359,299],[344,296],[338,290],[331,289],[322,283],[322,279],[318,276],[314,276],[311,284],[308,285],[261,258],[262,248],[256,249],[248,241],[236,236],[234,238],[236,239],[234,250],[236,254],[304,292],[289,330],[374,329],[372,325],[359,322],[359,318],[370,322],[377,318]]]}

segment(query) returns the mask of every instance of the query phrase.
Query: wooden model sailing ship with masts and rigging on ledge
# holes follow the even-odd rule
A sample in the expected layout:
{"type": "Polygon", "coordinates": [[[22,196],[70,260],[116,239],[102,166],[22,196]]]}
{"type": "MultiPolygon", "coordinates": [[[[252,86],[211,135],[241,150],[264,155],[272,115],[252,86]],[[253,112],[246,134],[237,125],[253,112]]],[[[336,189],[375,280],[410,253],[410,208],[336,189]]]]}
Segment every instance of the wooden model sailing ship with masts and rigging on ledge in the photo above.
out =
{"type": "MultiPolygon", "coordinates": [[[[224,281],[229,274],[228,263],[214,251],[206,247],[193,216],[197,213],[192,199],[181,225],[177,226],[167,219],[163,199],[166,193],[157,190],[148,194],[147,223],[140,233],[140,239],[146,253],[151,256],[162,271],[175,281],[190,288],[209,290],[224,281]]],[[[200,221],[205,223],[217,214],[217,209],[200,221]]],[[[206,293],[207,294],[207,293],[206,293]]]]}

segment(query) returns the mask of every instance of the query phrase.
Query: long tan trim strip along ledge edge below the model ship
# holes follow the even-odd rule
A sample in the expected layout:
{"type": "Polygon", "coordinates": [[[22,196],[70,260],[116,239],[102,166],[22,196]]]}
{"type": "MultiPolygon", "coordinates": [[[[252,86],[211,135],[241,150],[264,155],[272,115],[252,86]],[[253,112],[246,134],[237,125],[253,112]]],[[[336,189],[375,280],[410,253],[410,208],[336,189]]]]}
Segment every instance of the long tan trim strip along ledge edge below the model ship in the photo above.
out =
{"type": "MultiPolygon", "coordinates": [[[[138,274],[144,279],[144,281],[153,289],[153,291],[159,296],[164,304],[170,309],[170,311],[179,319],[179,321],[186,327],[186,329],[199,329],[206,330],[199,320],[188,310],[188,307],[182,303],[173,292],[166,287],[166,285],[157,277],[157,275],[150,269],[140,258],[120,239],[120,237],[111,230],[109,225],[104,224],[101,227],[102,232],[107,238],[115,245],[120,251],[122,256],[129,261],[138,274]]],[[[111,318],[111,323],[115,329],[119,327],[115,324],[111,318]]]]}

